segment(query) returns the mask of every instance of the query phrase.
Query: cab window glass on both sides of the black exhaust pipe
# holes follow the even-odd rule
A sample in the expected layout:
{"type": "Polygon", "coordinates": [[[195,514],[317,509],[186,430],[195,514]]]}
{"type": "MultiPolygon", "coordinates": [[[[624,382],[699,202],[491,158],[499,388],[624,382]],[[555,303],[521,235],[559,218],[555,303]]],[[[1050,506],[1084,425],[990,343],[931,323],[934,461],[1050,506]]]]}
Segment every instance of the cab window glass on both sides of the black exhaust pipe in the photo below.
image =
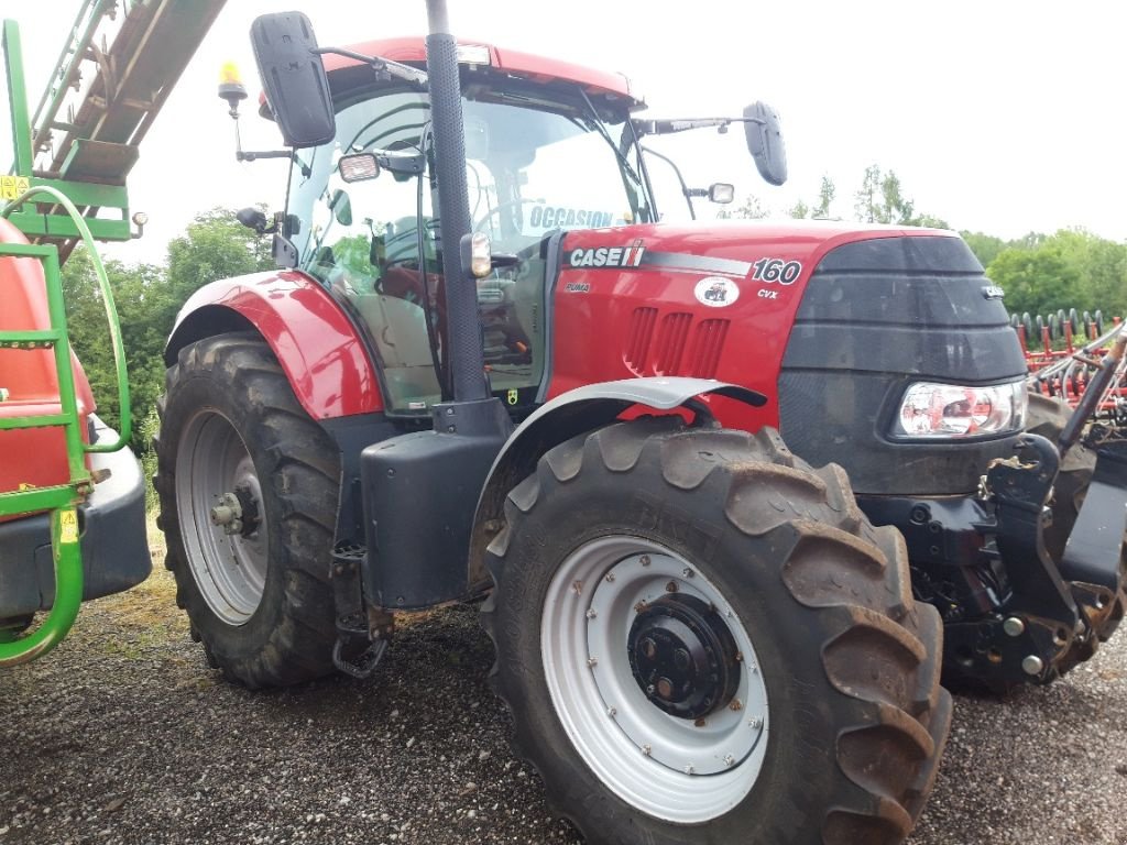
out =
{"type": "MultiPolygon", "coordinates": [[[[547,99],[538,88],[478,84],[463,95],[472,226],[494,252],[522,259],[478,283],[491,386],[521,406],[535,399],[543,374],[542,242],[559,230],[653,217],[624,110],[606,119],[579,94],[547,99]]],[[[432,155],[427,95],[369,90],[338,104],[334,141],[299,151],[291,171],[300,266],[367,324],[394,410],[425,410],[449,384],[432,155]],[[372,151],[425,153],[427,163],[421,176],[384,169],[346,183],[339,159],[372,151]]]]}

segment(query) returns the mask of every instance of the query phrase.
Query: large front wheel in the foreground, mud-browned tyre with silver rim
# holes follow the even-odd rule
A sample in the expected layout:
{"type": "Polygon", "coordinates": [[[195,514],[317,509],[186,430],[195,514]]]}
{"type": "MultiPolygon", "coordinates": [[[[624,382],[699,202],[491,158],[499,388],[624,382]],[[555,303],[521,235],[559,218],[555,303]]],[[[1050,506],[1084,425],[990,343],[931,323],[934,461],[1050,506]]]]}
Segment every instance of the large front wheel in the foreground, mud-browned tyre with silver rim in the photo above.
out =
{"type": "MultiPolygon", "coordinates": [[[[482,610],[492,683],[517,754],[588,842],[908,835],[950,722],[942,628],[840,468],[810,470],[771,429],[649,418],[548,452],[505,521],[482,610]],[[649,683],[649,625],[700,658],[689,686],[649,683]],[[671,712],[660,696],[687,688],[700,706],[671,712]]],[[[682,667],[671,653],[662,671],[682,667]]]]}

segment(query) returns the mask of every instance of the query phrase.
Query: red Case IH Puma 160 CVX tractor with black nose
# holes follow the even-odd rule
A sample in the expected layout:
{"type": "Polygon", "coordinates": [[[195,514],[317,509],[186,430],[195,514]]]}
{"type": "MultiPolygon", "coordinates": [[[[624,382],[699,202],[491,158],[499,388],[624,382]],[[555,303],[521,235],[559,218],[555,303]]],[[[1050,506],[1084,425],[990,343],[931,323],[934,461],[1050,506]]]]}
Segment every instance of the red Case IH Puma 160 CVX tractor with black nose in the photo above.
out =
{"type": "Polygon", "coordinates": [[[240,217],[278,270],[186,303],[160,404],[193,637],[251,687],[365,676],[397,616],[485,599],[517,751],[588,840],[902,840],[941,671],[1047,683],[1122,616],[1121,441],[1079,516],[1053,498],[951,232],[662,224],[642,139],[742,123],[781,184],[770,108],[642,121],[428,12],[425,44],[252,28],[291,168],[240,217]]]}

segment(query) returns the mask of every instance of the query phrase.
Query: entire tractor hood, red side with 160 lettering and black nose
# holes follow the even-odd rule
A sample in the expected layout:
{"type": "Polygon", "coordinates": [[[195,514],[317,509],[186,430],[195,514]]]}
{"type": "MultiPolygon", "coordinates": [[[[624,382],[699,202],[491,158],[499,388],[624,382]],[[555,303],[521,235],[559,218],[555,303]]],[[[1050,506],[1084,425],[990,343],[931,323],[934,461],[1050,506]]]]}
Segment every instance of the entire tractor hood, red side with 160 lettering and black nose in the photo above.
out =
{"type": "Polygon", "coordinates": [[[1001,291],[953,232],[816,221],[593,229],[562,239],[560,265],[551,395],[630,376],[740,384],[770,401],[733,409],[726,424],[780,427],[811,463],[851,463],[862,492],[966,492],[985,465],[976,448],[1008,454],[1012,437],[975,446],[888,434],[912,382],[1026,374],[1001,291]],[[890,456],[921,478],[890,479],[890,456]]]}

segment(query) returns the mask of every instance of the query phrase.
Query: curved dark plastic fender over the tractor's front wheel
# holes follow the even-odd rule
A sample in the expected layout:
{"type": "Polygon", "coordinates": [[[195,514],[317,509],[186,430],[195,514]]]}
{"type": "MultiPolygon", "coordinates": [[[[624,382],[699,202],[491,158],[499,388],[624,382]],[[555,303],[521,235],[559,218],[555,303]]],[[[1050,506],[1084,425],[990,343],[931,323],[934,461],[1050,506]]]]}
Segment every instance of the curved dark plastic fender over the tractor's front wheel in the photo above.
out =
{"type": "Polygon", "coordinates": [[[754,407],[767,401],[762,393],[738,384],[671,376],[588,384],[538,408],[505,442],[481,488],[470,533],[467,570],[470,595],[478,595],[491,586],[485,567],[485,552],[502,528],[505,497],[535,471],[536,462],[545,452],[576,435],[613,422],[628,408],[645,406],[658,411],[673,411],[692,407],[693,399],[709,394],[754,407]]]}

